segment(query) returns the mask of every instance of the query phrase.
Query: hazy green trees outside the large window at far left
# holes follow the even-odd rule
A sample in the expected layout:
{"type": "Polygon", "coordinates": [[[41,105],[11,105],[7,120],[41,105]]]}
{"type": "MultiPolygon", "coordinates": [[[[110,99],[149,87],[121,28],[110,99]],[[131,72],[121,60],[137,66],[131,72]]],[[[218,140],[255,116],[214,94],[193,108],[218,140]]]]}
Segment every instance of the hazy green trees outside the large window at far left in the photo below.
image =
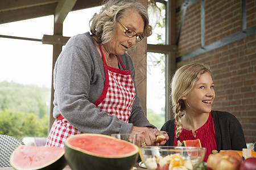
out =
{"type": "Polygon", "coordinates": [[[46,87],[0,82],[0,134],[47,137],[50,96],[46,87]]]}

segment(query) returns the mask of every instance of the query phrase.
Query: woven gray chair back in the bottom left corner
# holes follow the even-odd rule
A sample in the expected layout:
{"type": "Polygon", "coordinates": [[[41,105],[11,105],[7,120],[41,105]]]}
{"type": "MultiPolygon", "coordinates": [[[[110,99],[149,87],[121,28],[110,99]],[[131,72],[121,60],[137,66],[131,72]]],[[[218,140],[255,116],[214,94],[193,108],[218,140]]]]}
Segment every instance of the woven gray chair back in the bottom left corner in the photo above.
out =
{"type": "Polygon", "coordinates": [[[10,156],[19,145],[24,145],[20,139],[0,134],[0,168],[11,167],[10,156]]]}

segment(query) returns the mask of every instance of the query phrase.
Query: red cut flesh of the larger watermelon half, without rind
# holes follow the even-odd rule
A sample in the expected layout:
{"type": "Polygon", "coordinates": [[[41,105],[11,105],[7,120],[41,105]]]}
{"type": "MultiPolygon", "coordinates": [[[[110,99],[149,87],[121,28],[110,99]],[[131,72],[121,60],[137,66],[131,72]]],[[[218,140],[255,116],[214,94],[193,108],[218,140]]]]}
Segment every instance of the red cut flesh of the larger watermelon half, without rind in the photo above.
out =
{"type": "Polygon", "coordinates": [[[119,142],[117,145],[117,140],[100,135],[77,136],[69,141],[69,145],[77,147],[84,152],[91,152],[94,156],[106,156],[108,158],[125,157],[127,154],[130,155],[131,151],[135,149],[133,145],[128,145],[126,142],[119,142]]]}

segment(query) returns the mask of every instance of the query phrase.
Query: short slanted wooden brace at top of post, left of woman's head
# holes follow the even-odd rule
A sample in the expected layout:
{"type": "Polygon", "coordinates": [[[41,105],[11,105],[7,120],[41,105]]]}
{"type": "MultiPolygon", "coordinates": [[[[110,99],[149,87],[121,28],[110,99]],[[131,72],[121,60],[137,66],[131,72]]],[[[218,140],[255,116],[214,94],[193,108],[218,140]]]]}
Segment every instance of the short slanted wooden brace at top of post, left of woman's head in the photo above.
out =
{"type": "Polygon", "coordinates": [[[57,24],[63,23],[75,3],[76,0],[60,0],[55,10],[54,22],[57,24]]]}

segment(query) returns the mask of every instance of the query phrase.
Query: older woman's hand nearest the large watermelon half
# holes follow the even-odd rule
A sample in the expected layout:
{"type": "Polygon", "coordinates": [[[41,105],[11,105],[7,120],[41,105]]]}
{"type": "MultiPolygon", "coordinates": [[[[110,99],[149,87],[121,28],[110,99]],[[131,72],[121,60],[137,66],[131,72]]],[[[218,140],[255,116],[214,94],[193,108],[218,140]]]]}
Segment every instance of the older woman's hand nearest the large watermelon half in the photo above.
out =
{"type": "Polygon", "coordinates": [[[155,133],[151,129],[148,129],[146,127],[133,126],[133,128],[131,128],[130,133],[137,134],[136,145],[139,147],[150,146],[150,145],[154,145],[155,143],[155,139],[156,139],[155,133]]]}

